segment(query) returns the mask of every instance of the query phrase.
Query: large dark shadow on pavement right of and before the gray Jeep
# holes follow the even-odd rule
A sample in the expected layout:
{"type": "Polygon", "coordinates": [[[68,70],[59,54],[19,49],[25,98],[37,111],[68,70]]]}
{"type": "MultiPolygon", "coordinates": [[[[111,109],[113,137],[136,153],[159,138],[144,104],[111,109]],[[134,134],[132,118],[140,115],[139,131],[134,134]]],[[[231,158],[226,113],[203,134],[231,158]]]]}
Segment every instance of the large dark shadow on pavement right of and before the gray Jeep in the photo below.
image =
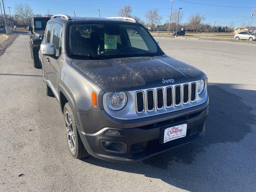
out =
{"type": "MultiPolygon", "coordinates": [[[[252,90],[239,91],[255,95],[252,90]]],[[[255,191],[255,138],[249,134],[256,124],[254,109],[218,84],[208,84],[208,93],[210,109],[202,140],[132,164],[93,157],[83,161],[144,174],[188,191],[255,191]]]]}

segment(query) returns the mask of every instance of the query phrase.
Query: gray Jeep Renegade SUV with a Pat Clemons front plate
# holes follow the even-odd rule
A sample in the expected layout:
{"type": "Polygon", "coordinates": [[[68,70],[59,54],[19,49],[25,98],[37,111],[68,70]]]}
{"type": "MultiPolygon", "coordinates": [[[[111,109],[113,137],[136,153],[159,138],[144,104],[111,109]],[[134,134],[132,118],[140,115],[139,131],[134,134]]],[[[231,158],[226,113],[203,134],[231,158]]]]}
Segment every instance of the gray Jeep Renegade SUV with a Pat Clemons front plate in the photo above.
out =
{"type": "Polygon", "coordinates": [[[39,58],[74,158],[134,162],[204,136],[206,75],[132,18],[55,15],[39,58]]]}

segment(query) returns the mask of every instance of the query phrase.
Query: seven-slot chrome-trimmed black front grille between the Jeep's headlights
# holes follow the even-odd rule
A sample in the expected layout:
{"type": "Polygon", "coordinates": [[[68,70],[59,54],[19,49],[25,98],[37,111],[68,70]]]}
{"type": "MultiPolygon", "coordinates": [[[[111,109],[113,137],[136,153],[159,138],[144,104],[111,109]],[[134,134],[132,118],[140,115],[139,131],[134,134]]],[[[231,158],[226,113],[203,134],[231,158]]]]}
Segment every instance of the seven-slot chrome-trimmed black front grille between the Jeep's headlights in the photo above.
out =
{"type": "Polygon", "coordinates": [[[176,109],[176,107],[180,105],[188,104],[196,100],[196,83],[192,82],[168,86],[166,88],[154,88],[146,90],[145,92],[138,91],[135,94],[135,98],[137,113],[144,113],[145,111],[150,113],[155,110],[171,110],[172,108],[176,109]]]}

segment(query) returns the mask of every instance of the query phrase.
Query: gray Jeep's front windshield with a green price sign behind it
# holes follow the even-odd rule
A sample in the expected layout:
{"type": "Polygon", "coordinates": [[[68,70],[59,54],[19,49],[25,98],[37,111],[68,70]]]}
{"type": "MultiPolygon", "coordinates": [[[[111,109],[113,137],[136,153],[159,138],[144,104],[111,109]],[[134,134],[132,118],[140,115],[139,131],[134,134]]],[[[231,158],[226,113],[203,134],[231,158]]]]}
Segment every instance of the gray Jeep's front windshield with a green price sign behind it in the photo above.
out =
{"type": "Polygon", "coordinates": [[[70,25],[68,53],[96,59],[163,54],[141,25],[112,22],[70,25]]]}

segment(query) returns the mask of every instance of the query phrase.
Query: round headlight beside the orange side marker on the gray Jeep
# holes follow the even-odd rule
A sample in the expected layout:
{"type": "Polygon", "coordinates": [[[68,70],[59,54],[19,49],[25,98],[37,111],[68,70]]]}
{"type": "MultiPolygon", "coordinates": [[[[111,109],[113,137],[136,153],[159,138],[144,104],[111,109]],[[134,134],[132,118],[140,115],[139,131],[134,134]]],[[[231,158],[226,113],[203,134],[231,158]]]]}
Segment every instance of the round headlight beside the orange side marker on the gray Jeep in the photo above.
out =
{"type": "Polygon", "coordinates": [[[107,96],[107,105],[112,110],[120,110],[124,108],[127,102],[127,96],[125,92],[112,92],[107,96]]]}

